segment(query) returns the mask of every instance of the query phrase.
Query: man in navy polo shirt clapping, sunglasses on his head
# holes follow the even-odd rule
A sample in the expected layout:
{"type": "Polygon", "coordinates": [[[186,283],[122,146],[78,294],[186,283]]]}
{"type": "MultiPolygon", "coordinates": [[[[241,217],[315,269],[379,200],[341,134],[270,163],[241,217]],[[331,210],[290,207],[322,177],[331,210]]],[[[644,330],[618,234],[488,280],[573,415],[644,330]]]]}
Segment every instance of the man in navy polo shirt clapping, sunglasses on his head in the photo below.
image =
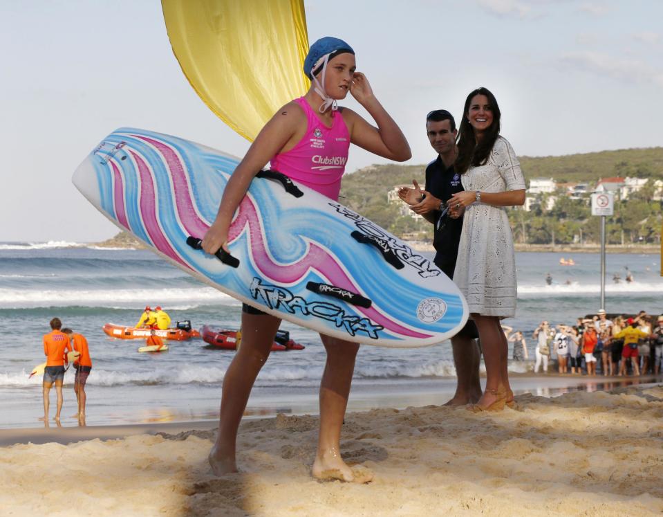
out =
{"type": "MultiPolygon", "coordinates": [[[[398,195],[410,205],[410,209],[422,215],[433,224],[433,247],[436,250],[435,262],[451,279],[454,278],[458,243],[463,230],[463,213],[445,210],[445,201],[463,190],[460,174],[454,170],[458,156],[456,148],[456,121],[446,109],[436,109],[426,116],[428,140],[438,157],[426,167],[426,187],[421,190],[417,181],[414,188],[404,187],[398,195]]],[[[481,397],[479,383],[480,350],[476,341],[478,332],[474,321],[451,338],[454,364],[458,375],[456,394],[447,406],[463,406],[474,403],[481,397]]]]}

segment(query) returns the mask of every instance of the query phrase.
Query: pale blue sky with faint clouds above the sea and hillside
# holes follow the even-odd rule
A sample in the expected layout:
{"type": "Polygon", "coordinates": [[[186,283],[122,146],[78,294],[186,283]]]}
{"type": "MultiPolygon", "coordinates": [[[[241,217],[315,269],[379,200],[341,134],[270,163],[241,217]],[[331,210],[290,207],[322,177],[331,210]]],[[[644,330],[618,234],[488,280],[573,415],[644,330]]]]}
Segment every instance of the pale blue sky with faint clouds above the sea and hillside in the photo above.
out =
{"type": "MultiPolygon", "coordinates": [[[[357,69],[410,142],[411,164],[434,157],[424,115],[446,108],[460,116],[478,86],[495,93],[502,134],[521,155],[662,143],[663,2],[305,3],[311,42],[335,35],[355,48],[357,69]]],[[[114,235],[71,174],[117,127],[238,156],[248,148],[189,87],[158,1],[3,0],[0,44],[0,241],[114,235]]],[[[362,111],[353,100],[343,104],[362,111]]],[[[384,160],[355,148],[348,171],[371,163],[384,160]]]]}

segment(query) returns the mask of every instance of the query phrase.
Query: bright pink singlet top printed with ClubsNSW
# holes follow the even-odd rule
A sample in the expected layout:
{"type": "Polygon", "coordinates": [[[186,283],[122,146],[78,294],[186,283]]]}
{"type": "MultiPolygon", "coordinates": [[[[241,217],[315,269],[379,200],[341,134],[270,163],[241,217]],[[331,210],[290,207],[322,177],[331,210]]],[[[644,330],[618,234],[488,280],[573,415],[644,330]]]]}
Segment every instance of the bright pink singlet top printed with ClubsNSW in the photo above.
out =
{"type": "Polygon", "coordinates": [[[332,127],[326,127],[304,97],[294,102],[306,114],[306,134],[290,151],[274,156],[270,165],[290,179],[337,200],[350,149],[350,134],[343,116],[333,111],[332,127]]]}

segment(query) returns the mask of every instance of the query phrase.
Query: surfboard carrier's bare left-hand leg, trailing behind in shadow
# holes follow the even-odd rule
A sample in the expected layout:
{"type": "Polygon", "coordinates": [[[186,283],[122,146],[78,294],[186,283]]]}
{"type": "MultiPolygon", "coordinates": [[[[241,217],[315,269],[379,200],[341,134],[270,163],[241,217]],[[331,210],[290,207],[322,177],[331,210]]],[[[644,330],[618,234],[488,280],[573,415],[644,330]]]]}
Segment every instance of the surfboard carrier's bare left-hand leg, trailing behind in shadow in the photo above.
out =
{"type": "Polygon", "coordinates": [[[242,341],[223,377],[216,443],[209,464],[216,475],[237,471],[237,429],[251,388],[267,361],[281,320],[269,314],[242,313],[242,341]]]}

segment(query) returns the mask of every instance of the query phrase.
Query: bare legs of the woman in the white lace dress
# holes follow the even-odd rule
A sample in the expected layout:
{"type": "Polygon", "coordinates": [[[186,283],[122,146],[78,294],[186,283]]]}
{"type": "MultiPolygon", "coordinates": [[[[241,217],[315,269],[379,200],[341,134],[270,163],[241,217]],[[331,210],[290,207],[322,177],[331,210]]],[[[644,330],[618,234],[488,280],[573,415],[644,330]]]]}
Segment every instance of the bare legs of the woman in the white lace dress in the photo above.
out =
{"type": "Polygon", "coordinates": [[[472,314],[479,331],[483,361],[486,365],[486,389],[477,406],[487,409],[511,392],[509,385],[507,338],[497,316],[472,314]]]}

